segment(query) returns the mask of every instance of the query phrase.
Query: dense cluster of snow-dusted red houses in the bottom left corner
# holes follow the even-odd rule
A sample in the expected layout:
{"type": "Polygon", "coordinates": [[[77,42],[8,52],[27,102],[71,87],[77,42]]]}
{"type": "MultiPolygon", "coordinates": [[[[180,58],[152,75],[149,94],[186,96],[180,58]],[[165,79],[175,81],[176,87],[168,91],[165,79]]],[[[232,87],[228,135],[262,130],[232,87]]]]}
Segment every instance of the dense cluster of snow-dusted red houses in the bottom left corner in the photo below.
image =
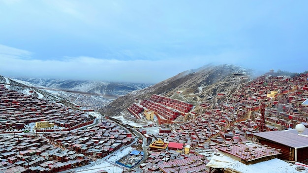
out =
{"type": "Polygon", "coordinates": [[[54,173],[90,161],[83,154],[51,145],[36,135],[2,136],[0,150],[1,173],[54,173]]]}

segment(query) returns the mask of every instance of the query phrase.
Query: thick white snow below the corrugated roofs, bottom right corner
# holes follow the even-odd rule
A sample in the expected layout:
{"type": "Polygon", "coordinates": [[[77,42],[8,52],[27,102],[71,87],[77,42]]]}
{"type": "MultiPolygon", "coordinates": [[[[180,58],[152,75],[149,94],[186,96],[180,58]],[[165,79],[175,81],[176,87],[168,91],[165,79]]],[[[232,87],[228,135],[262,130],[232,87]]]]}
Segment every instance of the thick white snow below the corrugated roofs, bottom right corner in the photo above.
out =
{"type": "Polygon", "coordinates": [[[225,168],[240,171],[241,173],[308,173],[306,170],[296,170],[296,165],[287,163],[280,159],[272,159],[264,162],[259,162],[252,165],[245,165],[241,162],[236,162],[225,168]]]}

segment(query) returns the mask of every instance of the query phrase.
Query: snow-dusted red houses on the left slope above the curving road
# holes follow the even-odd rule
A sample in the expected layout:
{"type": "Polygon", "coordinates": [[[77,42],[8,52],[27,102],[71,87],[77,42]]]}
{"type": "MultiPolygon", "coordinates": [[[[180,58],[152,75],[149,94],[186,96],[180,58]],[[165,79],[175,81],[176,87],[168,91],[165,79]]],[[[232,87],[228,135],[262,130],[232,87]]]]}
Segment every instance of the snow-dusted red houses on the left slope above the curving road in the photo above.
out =
{"type": "Polygon", "coordinates": [[[48,121],[68,130],[87,125],[92,119],[83,111],[0,86],[0,133],[22,132],[25,125],[38,121],[48,121]]]}

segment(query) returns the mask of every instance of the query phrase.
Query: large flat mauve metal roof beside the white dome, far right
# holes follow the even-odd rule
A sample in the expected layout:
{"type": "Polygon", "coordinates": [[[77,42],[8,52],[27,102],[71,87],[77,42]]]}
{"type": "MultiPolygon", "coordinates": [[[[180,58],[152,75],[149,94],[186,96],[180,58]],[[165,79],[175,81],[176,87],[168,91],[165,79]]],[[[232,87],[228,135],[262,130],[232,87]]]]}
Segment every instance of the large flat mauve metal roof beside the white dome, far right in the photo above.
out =
{"type": "MultiPolygon", "coordinates": [[[[302,134],[308,135],[308,130],[304,131],[302,134]]],[[[293,148],[308,147],[308,138],[299,136],[295,129],[288,131],[260,132],[254,133],[253,135],[293,148]]]]}

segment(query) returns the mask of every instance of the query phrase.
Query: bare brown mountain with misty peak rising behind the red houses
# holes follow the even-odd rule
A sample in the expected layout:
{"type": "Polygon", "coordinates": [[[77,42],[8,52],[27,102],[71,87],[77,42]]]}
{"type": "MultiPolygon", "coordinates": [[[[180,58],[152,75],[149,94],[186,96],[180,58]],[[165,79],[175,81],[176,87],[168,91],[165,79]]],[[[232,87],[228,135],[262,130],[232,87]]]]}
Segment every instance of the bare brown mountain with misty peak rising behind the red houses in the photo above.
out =
{"type": "Polygon", "coordinates": [[[148,99],[153,94],[179,99],[193,105],[207,102],[212,105],[221,101],[218,93],[231,95],[253,77],[253,71],[241,66],[223,64],[207,65],[184,71],[154,86],[132,91],[99,109],[103,115],[119,115],[134,99],[148,99]]]}

